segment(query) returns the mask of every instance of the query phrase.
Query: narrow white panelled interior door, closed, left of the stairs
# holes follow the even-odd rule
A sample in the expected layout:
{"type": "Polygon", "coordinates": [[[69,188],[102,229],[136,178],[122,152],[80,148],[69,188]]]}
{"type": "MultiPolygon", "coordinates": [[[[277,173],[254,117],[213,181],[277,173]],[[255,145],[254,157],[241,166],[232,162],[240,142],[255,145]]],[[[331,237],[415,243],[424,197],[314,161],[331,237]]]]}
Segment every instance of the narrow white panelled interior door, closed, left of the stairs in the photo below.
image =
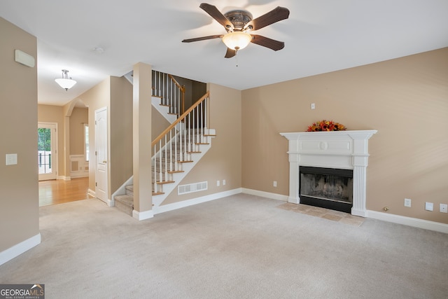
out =
{"type": "Polygon", "coordinates": [[[95,110],[95,195],[109,204],[107,197],[107,107],[95,110]]]}

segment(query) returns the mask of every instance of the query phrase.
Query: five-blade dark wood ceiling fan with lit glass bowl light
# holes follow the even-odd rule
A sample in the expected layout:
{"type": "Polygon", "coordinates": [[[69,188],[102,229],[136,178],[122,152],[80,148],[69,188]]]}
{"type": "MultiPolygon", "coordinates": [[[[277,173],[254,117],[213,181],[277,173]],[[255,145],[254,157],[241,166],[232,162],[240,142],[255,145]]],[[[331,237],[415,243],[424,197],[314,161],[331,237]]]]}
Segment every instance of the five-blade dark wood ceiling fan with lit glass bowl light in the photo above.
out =
{"type": "Polygon", "coordinates": [[[211,15],[211,18],[214,18],[221,25],[223,25],[228,33],[202,36],[195,39],[184,39],[182,41],[183,43],[204,41],[207,39],[223,39],[223,43],[225,43],[225,46],[228,47],[227,53],[225,53],[225,58],[234,57],[237,55],[238,50],[246,48],[249,43],[256,43],[259,46],[263,46],[274,51],[281,50],[285,46],[283,41],[275,41],[274,39],[269,39],[265,36],[251,34],[251,32],[271,25],[275,22],[287,19],[289,17],[288,8],[278,6],[272,11],[269,11],[269,13],[265,13],[264,15],[252,20],[252,15],[248,11],[237,10],[229,11],[228,13],[223,14],[218,11],[216,6],[211,4],[203,3],[199,7],[211,15]]]}

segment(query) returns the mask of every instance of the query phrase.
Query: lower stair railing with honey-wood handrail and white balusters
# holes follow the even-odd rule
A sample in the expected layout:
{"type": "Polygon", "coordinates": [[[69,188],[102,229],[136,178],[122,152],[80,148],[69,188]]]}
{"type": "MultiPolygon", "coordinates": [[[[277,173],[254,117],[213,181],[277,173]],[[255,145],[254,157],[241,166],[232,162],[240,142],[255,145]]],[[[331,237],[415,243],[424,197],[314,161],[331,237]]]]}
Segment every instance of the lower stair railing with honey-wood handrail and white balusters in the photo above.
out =
{"type": "Polygon", "coordinates": [[[193,162],[191,155],[207,141],[209,95],[203,95],[151,143],[153,194],[163,193],[163,184],[173,183],[172,174],[183,172],[183,163],[193,162]]]}

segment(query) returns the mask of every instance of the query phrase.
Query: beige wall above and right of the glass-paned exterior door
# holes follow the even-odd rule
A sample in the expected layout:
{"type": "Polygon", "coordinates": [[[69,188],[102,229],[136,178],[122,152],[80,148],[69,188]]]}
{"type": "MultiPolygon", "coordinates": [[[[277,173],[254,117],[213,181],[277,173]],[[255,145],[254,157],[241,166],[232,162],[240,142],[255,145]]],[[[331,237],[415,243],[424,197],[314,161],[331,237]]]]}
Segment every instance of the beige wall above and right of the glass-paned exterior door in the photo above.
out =
{"type": "Polygon", "coordinates": [[[37,105],[37,120],[57,123],[57,176],[64,176],[64,113],[62,106],[37,105]]]}

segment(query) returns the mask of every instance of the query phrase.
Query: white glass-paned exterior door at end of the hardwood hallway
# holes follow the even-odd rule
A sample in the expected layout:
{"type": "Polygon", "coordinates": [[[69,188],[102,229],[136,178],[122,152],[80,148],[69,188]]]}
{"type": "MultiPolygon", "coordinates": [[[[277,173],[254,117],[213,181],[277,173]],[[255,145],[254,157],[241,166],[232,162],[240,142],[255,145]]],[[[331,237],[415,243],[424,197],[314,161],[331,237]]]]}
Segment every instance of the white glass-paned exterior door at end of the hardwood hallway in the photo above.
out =
{"type": "Polygon", "coordinates": [[[39,181],[56,179],[57,123],[37,124],[37,165],[39,181]]]}

